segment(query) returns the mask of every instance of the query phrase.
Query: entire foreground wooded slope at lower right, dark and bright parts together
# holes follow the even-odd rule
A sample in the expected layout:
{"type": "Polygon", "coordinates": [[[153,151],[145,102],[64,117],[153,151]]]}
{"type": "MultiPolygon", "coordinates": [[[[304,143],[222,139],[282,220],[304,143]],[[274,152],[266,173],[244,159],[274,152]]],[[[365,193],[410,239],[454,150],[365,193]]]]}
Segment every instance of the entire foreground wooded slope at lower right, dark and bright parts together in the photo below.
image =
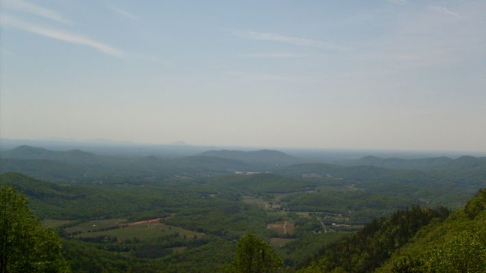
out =
{"type": "Polygon", "coordinates": [[[374,220],[354,235],[323,248],[302,273],[484,272],[486,190],[467,205],[414,207],[374,220]],[[430,271],[431,270],[431,271],[430,271]]]}

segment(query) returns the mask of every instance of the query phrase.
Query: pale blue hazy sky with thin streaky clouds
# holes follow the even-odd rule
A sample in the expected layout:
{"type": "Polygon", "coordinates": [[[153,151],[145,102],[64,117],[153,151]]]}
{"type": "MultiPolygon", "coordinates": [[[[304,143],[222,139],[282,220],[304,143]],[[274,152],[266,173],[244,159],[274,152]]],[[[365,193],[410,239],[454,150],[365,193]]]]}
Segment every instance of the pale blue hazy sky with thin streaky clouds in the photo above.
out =
{"type": "Polygon", "coordinates": [[[0,137],[486,151],[486,1],[0,1],[0,137]]]}

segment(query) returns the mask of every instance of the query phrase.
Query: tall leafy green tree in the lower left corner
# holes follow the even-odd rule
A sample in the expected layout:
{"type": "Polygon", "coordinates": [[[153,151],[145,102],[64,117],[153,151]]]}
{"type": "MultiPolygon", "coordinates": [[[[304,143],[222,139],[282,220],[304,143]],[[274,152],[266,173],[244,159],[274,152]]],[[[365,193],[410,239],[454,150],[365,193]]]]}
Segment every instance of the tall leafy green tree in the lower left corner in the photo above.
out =
{"type": "Polygon", "coordinates": [[[0,187],[0,273],[69,272],[58,235],[42,229],[14,187],[0,187]]]}

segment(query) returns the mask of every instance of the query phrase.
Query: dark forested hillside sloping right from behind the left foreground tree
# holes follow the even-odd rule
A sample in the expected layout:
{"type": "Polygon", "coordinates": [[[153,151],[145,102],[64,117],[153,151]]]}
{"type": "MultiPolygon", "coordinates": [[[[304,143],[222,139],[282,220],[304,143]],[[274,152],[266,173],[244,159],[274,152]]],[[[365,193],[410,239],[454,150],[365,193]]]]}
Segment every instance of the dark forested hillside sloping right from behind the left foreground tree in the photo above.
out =
{"type": "Polygon", "coordinates": [[[24,174],[0,174],[0,185],[12,185],[29,199],[38,218],[85,219],[119,216],[120,213],[148,209],[156,198],[150,189],[136,193],[123,188],[88,185],[66,185],[41,181],[24,174]]]}

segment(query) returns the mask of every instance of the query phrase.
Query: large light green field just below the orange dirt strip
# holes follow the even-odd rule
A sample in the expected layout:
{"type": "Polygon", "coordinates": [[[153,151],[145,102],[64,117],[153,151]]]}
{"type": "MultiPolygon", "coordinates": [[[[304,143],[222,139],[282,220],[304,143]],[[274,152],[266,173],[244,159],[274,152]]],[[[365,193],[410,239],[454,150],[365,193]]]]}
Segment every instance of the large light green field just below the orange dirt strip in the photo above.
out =
{"type": "Polygon", "coordinates": [[[178,233],[178,237],[186,236],[187,239],[193,239],[194,237],[203,237],[204,233],[196,233],[193,231],[188,231],[187,229],[182,229],[176,226],[169,226],[167,224],[132,224],[130,226],[123,225],[119,229],[110,229],[107,231],[94,231],[89,233],[81,233],[75,235],[76,238],[90,238],[90,237],[102,237],[110,236],[117,237],[119,241],[125,239],[150,239],[160,236],[173,235],[178,233]]]}

